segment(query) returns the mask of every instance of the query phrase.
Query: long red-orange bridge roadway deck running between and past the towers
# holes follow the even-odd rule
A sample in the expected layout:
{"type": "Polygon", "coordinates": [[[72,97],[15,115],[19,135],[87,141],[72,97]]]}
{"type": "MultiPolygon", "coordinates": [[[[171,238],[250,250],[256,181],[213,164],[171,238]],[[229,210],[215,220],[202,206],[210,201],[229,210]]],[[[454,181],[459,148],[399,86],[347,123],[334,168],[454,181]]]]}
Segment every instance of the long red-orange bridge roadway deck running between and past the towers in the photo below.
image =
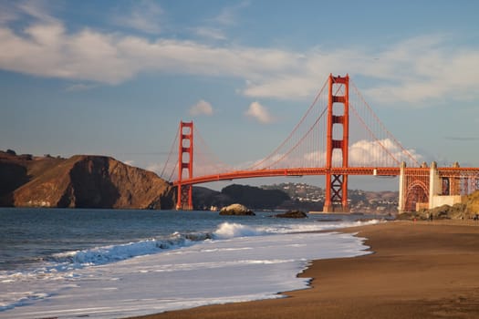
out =
{"type": "MultiPolygon", "coordinates": [[[[429,174],[431,168],[405,168],[406,175],[422,175],[429,174]]],[[[438,168],[439,174],[443,176],[453,177],[467,175],[467,173],[477,174],[477,168],[438,168]]],[[[253,179],[262,177],[281,177],[281,176],[310,176],[310,175],[326,175],[330,172],[334,175],[370,175],[370,176],[399,176],[401,169],[399,167],[349,167],[349,168],[294,168],[294,169],[275,169],[275,170],[234,170],[219,174],[203,175],[193,177],[192,179],[175,180],[173,186],[178,184],[193,185],[202,184],[211,181],[218,180],[240,180],[240,179],[253,179]]]]}

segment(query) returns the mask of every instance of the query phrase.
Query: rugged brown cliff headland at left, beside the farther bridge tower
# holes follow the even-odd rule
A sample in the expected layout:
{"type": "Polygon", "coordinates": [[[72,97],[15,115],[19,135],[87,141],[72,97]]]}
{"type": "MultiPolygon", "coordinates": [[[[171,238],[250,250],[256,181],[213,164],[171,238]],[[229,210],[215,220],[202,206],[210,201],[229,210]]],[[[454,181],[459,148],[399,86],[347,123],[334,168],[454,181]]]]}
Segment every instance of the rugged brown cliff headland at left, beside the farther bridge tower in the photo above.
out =
{"type": "Polygon", "coordinates": [[[155,173],[103,156],[0,159],[0,204],[16,207],[171,209],[155,173]]]}

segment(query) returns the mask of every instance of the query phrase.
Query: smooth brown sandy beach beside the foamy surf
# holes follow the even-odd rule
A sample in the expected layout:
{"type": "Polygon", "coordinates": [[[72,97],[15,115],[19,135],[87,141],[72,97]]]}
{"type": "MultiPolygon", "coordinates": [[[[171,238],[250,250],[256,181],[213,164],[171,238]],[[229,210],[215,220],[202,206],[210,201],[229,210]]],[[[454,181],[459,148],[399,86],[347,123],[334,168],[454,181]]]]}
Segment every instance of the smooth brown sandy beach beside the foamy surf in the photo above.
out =
{"type": "Polygon", "coordinates": [[[477,318],[479,223],[393,221],[349,228],[369,255],[314,261],[311,288],[286,298],[141,318],[477,318]]]}

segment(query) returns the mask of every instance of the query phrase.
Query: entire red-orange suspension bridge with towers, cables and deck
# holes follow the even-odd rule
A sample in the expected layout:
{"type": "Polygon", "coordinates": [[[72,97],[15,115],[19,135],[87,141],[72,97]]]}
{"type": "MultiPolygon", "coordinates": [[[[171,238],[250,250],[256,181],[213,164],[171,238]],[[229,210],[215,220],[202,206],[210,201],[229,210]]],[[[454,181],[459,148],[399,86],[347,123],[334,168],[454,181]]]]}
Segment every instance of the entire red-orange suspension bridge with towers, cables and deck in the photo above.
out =
{"type": "Polygon", "coordinates": [[[428,167],[405,149],[348,75],[329,75],[286,139],[249,167],[232,168],[214,159],[193,121],[180,123],[172,145],[161,177],[177,187],[178,210],[193,210],[194,184],[216,180],[324,175],[327,212],[349,211],[351,175],[399,176],[399,211],[453,204],[479,189],[479,168],[438,168],[434,162],[428,167]]]}

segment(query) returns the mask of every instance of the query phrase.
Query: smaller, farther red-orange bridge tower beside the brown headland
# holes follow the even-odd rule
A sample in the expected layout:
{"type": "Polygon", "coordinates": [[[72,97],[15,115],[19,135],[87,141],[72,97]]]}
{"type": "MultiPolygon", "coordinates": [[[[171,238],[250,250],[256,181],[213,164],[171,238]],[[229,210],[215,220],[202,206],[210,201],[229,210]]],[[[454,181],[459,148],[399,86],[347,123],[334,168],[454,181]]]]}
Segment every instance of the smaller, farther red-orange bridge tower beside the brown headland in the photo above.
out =
{"type": "Polygon", "coordinates": [[[193,121],[180,122],[180,148],[178,150],[178,193],[176,210],[193,210],[193,185],[182,185],[183,173],[193,178],[193,121]]]}

